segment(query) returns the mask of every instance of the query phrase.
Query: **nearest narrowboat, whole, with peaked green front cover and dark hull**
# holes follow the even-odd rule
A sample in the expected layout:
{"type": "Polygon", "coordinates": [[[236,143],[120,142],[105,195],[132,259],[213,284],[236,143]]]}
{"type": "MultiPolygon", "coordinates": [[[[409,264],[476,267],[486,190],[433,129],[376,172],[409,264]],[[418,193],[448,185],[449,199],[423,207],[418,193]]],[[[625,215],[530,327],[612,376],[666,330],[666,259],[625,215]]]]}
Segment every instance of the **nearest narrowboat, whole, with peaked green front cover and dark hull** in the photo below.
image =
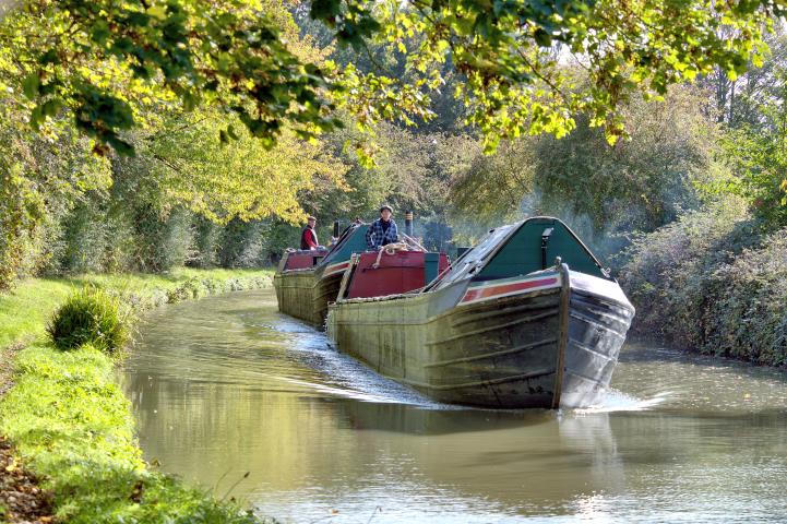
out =
{"type": "Polygon", "coordinates": [[[354,293],[371,276],[360,269],[349,265],[329,307],[329,337],[379,373],[449,404],[597,404],[634,315],[609,272],[552,217],[490,230],[415,291],[354,293]]]}

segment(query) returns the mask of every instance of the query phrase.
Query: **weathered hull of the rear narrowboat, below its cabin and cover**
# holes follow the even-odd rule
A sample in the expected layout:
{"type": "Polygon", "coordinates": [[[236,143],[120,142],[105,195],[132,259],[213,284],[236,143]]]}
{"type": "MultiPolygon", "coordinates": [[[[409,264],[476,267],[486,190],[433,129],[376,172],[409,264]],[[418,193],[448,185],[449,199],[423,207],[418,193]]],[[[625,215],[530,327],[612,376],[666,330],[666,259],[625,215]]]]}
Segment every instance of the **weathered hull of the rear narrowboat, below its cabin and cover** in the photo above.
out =
{"type": "Polygon", "coordinates": [[[278,310],[322,329],[327,305],[336,299],[342,273],[329,276],[315,270],[284,271],[273,277],[278,310]]]}

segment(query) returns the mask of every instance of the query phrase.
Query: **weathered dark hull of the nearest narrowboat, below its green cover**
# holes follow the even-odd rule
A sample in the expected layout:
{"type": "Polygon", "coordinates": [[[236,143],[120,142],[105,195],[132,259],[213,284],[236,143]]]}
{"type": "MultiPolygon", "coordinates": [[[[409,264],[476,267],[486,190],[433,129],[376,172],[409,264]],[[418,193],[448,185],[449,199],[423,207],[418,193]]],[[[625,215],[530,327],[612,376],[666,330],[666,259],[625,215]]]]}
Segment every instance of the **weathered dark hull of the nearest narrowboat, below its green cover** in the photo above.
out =
{"type": "Polygon", "coordinates": [[[342,352],[439,402],[592,405],[609,385],[633,308],[622,291],[596,286],[599,278],[583,275],[575,286],[570,273],[551,289],[468,305],[457,305],[466,283],[338,301],[330,307],[329,336],[342,352]]]}

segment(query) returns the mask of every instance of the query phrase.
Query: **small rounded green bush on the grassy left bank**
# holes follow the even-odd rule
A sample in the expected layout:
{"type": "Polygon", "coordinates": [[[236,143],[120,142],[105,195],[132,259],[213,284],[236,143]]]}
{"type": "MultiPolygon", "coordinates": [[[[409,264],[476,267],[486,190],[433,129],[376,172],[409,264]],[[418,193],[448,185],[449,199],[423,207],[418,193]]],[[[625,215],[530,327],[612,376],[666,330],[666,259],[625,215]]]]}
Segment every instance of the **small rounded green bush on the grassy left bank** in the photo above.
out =
{"type": "Polygon", "coordinates": [[[62,350],[91,344],[104,353],[114,354],[129,341],[128,315],[117,296],[84,287],[55,312],[47,333],[62,350]]]}

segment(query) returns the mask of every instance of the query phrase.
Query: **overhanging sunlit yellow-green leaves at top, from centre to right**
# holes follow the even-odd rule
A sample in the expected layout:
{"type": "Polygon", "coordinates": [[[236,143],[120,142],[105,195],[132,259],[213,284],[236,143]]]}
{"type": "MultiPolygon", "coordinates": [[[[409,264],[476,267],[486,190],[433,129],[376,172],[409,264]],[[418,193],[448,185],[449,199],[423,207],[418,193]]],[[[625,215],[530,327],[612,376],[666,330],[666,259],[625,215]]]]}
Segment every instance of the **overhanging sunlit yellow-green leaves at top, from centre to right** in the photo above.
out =
{"type": "Polygon", "coordinates": [[[657,98],[714,67],[736,75],[758,63],[776,9],[748,0],[325,0],[312,15],[330,13],[332,26],[377,20],[378,43],[407,53],[409,71],[451,63],[464,80],[467,123],[493,151],[521,134],[565,135],[577,112],[615,143],[632,93],[657,98]]]}

